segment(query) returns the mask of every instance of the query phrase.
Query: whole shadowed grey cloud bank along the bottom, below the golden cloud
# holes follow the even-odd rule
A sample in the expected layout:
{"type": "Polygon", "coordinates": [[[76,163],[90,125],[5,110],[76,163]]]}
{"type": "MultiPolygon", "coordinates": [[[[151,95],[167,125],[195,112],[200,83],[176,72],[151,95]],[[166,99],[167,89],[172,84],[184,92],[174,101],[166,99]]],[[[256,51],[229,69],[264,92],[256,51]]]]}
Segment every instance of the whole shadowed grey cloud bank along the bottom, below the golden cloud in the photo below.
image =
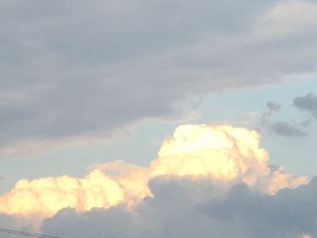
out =
{"type": "Polygon", "coordinates": [[[228,190],[210,181],[159,178],[153,197],[124,207],[78,213],[64,209],[43,222],[62,237],[303,237],[317,236],[316,179],[307,186],[263,195],[245,185],[228,190]]]}

